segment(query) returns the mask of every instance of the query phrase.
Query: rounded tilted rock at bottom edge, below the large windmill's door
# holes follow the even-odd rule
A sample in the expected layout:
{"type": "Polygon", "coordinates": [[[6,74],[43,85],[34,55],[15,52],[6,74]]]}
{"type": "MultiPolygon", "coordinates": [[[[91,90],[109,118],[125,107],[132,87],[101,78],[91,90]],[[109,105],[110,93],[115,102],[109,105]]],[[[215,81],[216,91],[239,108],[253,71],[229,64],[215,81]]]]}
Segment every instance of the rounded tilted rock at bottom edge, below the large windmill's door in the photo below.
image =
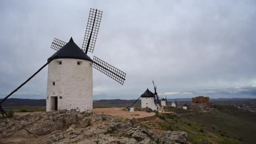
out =
{"type": "Polygon", "coordinates": [[[43,139],[43,141],[41,142],[41,144],[52,144],[56,141],[59,141],[61,139],[64,139],[64,134],[62,131],[53,131],[52,133],[50,133],[45,139],[43,139]]]}

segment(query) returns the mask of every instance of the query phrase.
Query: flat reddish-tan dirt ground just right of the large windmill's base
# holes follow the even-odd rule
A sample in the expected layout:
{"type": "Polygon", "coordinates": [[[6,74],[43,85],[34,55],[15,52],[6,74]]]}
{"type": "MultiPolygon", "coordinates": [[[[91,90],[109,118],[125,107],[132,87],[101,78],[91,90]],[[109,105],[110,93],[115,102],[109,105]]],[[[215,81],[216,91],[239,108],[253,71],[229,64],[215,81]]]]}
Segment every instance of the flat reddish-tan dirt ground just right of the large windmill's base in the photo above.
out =
{"type": "Polygon", "coordinates": [[[143,118],[143,117],[150,117],[155,115],[154,112],[142,112],[142,111],[122,111],[121,108],[99,108],[93,109],[93,113],[101,114],[104,112],[105,115],[112,115],[112,116],[119,116],[123,118],[143,118]]]}

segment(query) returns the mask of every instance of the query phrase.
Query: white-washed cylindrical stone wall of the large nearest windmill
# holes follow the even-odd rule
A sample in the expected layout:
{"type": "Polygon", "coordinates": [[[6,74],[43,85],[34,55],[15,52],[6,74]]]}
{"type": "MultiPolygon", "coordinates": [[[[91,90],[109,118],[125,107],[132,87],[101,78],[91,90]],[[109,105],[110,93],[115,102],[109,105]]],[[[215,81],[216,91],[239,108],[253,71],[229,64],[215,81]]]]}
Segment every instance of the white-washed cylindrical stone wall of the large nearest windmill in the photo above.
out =
{"type": "Polygon", "coordinates": [[[58,110],[77,109],[80,112],[91,112],[93,108],[92,69],[91,61],[80,59],[51,61],[48,64],[46,111],[54,110],[51,97],[58,96],[58,110]],[[80,61],[80,65],[77,61],[80,61]]]}

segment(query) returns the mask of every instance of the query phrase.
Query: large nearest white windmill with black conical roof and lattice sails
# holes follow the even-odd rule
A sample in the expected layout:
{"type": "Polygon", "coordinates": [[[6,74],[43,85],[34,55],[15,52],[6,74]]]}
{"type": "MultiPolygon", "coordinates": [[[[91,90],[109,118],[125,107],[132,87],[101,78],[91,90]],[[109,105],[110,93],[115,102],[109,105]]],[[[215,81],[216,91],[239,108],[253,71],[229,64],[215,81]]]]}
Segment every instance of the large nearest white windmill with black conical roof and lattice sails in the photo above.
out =
{"type": "Polygon", "coordinates": [[[126,75],[124,72],[96,56],[93,57],[93,60],[87,56],[88,51],[93,52],[101,16],[102,11],[91,8],[82,49],[74,43],[72,37],[68,43],[56,38],[53,40],[51,48],[57,52],[34,75],[0,102],[0,111],[3,116],[6,115],[1,107],[3,101],[19,90],[48,64],[47,111],[77,109],[81,112],[90,112],[93,103],[92,67],[123,85],[126,75]]]}

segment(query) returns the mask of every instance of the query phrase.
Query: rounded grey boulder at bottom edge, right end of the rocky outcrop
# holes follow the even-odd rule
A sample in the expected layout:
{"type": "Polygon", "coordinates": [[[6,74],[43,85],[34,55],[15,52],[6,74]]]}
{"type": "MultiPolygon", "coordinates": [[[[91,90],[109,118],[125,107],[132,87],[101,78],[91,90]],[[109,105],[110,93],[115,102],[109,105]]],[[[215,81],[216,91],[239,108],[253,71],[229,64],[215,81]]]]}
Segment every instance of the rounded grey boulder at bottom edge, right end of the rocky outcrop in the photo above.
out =
{"type": "Polygon", "coordinates": [[[189,144],[184,131],[167,131],[160,136],[160,144],[189,144]]]}

